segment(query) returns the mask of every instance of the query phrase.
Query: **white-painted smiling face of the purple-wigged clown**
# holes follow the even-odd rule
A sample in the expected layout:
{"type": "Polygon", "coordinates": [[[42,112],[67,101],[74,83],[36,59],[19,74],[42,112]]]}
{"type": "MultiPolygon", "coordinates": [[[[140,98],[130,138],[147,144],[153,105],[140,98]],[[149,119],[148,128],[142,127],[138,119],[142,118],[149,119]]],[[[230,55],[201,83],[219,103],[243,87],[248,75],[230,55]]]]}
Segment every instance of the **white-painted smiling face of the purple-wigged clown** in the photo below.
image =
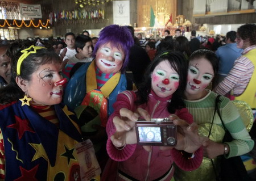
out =
{"type": "Polygon", "coordinates": [[[110,43],[102,45],[96,53],[96,65],[104,73],[117,73],[123,65],[125,53],[112,47],[110,43]]]}

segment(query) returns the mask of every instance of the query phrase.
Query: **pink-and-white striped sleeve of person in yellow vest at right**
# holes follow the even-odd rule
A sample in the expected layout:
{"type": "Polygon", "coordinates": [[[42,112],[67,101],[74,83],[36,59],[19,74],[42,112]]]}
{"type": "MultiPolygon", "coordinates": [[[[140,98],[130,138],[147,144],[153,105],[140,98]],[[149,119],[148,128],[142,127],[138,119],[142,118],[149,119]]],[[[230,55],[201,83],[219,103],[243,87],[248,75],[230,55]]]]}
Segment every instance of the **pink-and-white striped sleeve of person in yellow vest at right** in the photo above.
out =
{"type": "Polygon", "coordinates": [[[234,62],[234,66],[228,76],[215,87],[214,92],[226,95],[229,91],[233,90],[235,96],[241,95],[246,89],[253,71],[254,66],[251,61],[247,57],[239,57],[234,62]]]}

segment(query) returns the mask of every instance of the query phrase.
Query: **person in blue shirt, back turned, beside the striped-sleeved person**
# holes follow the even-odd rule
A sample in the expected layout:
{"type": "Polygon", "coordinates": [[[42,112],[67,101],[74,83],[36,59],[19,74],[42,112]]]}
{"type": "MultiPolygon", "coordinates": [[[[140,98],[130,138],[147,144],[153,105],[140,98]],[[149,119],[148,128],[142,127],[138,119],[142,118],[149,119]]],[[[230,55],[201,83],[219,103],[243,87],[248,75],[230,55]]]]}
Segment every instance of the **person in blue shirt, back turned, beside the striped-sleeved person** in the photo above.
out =
{"type": "Polygon", "coordinates": [[[229,74],[229,71],[233,68],[234,61],[242,55],[243,49],[237,48],[236,38],[237,32],[229,31],[226,33],[226,45],[219,47],[215,52],[220,60],[217,84],[229,74]]]}

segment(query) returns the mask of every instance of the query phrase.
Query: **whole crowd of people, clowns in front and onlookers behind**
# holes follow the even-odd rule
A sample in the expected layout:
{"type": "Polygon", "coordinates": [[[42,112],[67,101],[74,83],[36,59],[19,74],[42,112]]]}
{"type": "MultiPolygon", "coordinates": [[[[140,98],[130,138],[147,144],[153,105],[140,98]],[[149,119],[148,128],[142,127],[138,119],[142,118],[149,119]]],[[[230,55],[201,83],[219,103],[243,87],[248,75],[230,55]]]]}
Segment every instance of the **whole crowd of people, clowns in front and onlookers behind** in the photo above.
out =
{"type": "Polygon", "coordinates": [[[0,180],[217,180],[221,156],[256,160],[256,128],[233,103],[256,110],[256,25],[164,36],[113,24],[0,45],[0,180]],[[173,145],[137,128],[165,117],[173,145]]]}

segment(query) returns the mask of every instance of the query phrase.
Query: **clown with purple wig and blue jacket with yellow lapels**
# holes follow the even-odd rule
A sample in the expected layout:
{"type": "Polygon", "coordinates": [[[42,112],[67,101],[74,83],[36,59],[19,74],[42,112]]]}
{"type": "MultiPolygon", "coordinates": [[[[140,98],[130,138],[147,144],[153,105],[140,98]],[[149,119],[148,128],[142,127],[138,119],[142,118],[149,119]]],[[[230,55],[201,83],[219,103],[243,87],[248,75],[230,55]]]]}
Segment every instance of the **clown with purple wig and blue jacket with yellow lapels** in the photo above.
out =
{"type": "MultiPolygon", "coordinates": [[[[126,90],[125,68],[133,44],[128,28],[105,27],[94,47],[94,60],[80,66],[65,89],[64,103],[75,110],[82,132],[92,141],[92,135],[102,140],[98,132],[105,132],[112,105],[119,92],[126,90]]],[[[97,151],[95,144],[94,149],[97,151]]]]}

